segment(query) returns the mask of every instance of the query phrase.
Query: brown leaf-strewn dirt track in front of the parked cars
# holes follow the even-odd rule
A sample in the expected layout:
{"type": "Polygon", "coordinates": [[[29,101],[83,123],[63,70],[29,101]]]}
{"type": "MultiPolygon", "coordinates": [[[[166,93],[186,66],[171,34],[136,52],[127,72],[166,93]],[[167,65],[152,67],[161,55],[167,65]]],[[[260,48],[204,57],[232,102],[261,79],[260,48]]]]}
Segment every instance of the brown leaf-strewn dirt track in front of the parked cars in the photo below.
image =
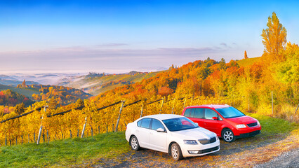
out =
{"type": "MultiPolygon", "coordinates": [[[[290,134],[288,137],[260,134],[252,138],[237,139],[232,144],[220,140],[218,153],[185,158],[179,162],[175,162],[166,153],[142,149],[111,160],[99,158],[86,167],[271,167],[272,165],[275,167],[277,162],[284,162],[286,158],[290,158],[289,155],[298,155],[298,146],[298,133],[290,134]],[[281,155],[282,153],[284,154],[281,155]],[[273,160],[274,158],[276,160],[273,160]]],[[[297,164],[297,158],[299,157],[290,158],[289,162],[297,164]]]]}

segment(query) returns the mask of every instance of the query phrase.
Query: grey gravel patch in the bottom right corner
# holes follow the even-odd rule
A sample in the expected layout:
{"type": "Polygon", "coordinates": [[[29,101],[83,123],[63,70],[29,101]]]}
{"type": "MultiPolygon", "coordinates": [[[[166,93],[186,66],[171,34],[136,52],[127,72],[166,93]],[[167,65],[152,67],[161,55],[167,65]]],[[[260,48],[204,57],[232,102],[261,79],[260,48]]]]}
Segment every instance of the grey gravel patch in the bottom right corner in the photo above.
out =
{"type": "Polygon", "coordinates": [[[260,165],[255,165],[255,168],[261,167],[299,167],[299,148],[279,155],[277,158],[265,162],[260,165]]]}

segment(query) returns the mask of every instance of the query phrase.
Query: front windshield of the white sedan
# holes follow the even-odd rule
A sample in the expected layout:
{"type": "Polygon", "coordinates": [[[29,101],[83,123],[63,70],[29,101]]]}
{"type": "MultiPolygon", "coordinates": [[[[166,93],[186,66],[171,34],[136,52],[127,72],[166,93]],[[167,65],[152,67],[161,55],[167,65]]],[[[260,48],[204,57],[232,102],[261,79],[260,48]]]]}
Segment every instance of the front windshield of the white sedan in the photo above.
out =
{"type": "Polygon", "coordinates": [[[175,132],[180,130],[189,130],[199,127],[192,120],[188,118],[172,118],[168,120],[163,120],[163,123],[166,125],[169,131],[175,132]]]}

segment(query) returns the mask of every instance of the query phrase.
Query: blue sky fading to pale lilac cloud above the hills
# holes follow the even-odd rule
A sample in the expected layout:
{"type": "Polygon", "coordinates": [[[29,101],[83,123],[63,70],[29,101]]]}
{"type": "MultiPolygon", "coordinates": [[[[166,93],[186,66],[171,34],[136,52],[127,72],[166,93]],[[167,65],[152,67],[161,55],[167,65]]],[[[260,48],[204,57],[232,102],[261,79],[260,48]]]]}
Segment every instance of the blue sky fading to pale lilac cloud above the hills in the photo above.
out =
{"type": "Polygon", "coordinates": [[[298,44],[298,1],[0,1],[0,73],[155,71],[263,54],[274,11],[298,44]]]}

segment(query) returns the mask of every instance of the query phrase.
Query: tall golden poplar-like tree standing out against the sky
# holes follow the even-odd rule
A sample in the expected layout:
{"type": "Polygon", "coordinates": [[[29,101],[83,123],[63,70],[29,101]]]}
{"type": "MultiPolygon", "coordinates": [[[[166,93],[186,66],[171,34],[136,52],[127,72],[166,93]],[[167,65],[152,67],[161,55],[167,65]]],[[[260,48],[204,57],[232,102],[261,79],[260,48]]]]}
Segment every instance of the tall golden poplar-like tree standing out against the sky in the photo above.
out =
{"type": "Polygon", "coordinates": [[[282,56],[279,54],[286,46],[286,28],[279,23],[276,13],[272,13],[272,17],[268,18],[267,29],[263,29],[261,34],[264,49],[264,57],[268,62],[277,62],[282,56]]]}

